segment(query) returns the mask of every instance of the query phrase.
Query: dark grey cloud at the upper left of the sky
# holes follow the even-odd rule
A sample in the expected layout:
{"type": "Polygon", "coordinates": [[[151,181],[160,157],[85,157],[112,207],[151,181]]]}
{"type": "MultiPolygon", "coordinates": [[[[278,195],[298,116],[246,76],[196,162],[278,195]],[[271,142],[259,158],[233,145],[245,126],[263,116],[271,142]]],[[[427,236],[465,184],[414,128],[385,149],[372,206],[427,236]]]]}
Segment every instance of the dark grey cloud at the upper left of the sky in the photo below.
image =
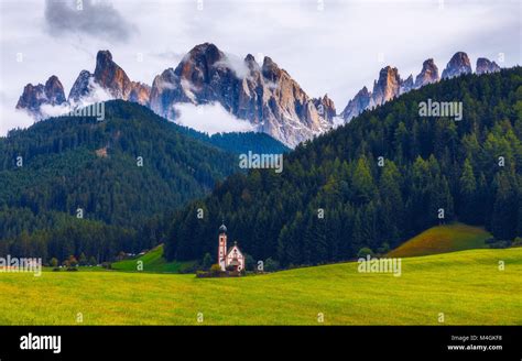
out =
{"type": "Polygon", "coordinates": [[[108,2],[47,0],[45,23],[53,36],[86,34],[109,41],[128,41],[135,26],[108,2]]]}

